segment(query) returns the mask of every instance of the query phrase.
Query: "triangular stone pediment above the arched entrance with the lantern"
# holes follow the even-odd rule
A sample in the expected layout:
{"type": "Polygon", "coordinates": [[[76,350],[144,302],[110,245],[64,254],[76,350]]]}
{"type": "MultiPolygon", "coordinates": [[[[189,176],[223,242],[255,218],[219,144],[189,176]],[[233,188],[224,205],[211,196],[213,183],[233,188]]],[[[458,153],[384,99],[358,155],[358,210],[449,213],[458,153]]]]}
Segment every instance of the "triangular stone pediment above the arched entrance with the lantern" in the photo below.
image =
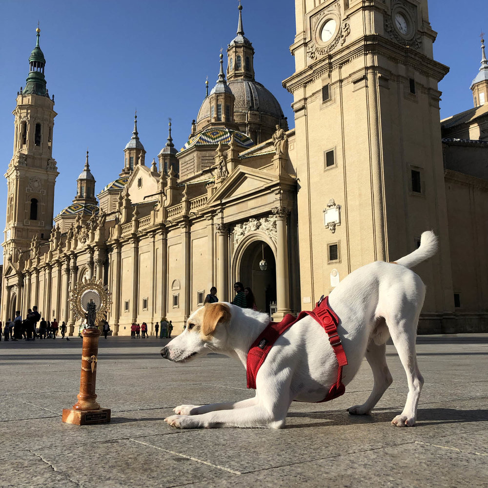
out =
{"type": "Polygon", "coordinates": [[[278,176],[273,173],[238,166],[225,180],[225,183],[209,198],[207,204],[259,192],[263,190],[263,187],[278,181],[278,176]]]}

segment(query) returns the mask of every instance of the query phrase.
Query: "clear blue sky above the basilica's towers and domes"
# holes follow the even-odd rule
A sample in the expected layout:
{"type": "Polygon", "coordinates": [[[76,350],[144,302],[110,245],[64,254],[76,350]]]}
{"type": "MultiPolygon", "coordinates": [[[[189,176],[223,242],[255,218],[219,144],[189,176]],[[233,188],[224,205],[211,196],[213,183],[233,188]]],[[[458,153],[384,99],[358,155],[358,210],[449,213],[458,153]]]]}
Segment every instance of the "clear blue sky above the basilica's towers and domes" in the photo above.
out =
{"type": "MultiPolygon", "coordinates": [[[[479,34],[488,32],[488,2],[431,0],[438,32],[434,57],[450,67],[441,81],[441,118],[471,108],[469,90],[480,66],[479,34]]],[[[55,215],[76,193],[86,149],[96,191],[117,178],[131,137],[134,110],[146,164],[166,142],[168,117],[177,148],[188,138],[205,95],[219,72],[220,48],[235,37],[237,0],[1,0],[0,145],[3,172],[12,158],[13,116],[28,58],[41,27],[49,93],[55,96],[53,157],[60,176],[55,215]]],[[[294,71],[289,46],[295,35],[294,2],[243,0],[245,36],[255,53],[256,80],[280,102],[290,127],[292,97],[282,81],[294,71]],[[278,6],[278,7],[277,7],[278,6]]],[[[488,36],[488,34],[487,34],[488,36]]],[[[226,58],[224,57],[224,60],[226,58]]],[[[0,227],[5,224],[6,183],[0,185],[0,227]]]]}

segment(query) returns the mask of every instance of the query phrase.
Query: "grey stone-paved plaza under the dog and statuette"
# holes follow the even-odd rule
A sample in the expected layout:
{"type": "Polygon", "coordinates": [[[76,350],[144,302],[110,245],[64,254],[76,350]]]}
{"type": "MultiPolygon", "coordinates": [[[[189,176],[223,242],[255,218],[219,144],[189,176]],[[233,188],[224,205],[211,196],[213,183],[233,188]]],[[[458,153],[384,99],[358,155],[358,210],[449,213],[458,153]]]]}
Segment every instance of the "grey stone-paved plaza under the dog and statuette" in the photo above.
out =
{"type": "Polygon", "coordinates": [[[425,377],[416,427],[401,412],[407,379],[393,346],[393,385],[370,417],[345,409],[372,386],[366,361],[346,394],[294,403],[287,427],[176,430],[176,405],[242,400],[241,365],[210,354],[175,365],[168,340],[100,339],[97,393],[108,425],[61,422],[76,403],[81,339],[0,344],[1,487],[487,487],[488,334],[419,336],[425,377]]]}

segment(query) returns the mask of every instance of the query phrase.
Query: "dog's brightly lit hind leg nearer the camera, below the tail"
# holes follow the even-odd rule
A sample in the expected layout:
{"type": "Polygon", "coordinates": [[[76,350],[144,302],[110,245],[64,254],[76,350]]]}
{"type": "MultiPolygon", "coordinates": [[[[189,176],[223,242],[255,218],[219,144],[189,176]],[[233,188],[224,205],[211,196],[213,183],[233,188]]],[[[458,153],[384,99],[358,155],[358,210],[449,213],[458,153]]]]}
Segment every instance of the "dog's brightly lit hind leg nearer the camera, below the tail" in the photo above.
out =
{"type": "Polygon", "coordinates": [[[424,385],[424,378],[420,374],[415,352],[415,331],[418,318],[417,314],[413,321],[404,318],[398,322],[398,325],[388,327],[400,361],[407,373],[408,381],[407,402],[403,412],[391,421],[397,427],[411,427],[415,424],[420,392],[424,385]]]}

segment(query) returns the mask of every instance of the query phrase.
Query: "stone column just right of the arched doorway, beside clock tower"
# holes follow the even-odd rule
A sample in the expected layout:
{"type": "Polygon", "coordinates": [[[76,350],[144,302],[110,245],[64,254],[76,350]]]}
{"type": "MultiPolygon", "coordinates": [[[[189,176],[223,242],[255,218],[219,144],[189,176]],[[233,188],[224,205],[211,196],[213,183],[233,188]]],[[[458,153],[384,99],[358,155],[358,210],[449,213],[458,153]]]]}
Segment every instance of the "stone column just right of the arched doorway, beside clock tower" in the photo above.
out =
{"type": "Polygon", "coordinates": [[[278,311],[273,320],[281,320],[290,313],[290,276],[288,273],[288,209],[275,207],[272,209],[276,215],[276,306],[278,311]]]}

